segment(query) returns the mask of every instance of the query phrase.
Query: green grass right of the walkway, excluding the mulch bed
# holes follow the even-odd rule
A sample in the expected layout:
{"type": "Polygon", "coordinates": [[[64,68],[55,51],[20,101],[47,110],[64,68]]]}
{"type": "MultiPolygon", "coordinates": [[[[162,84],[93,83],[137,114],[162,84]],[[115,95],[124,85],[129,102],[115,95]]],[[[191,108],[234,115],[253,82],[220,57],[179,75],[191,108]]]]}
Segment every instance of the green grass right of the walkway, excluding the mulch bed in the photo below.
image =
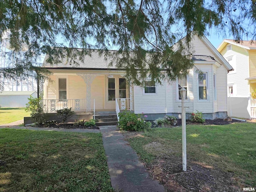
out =
{"type": "MultiPolygon", "coordinates": [[[[256,124],[188,125],[186,134],[188,159],[234,172],[242,182],[256,186],[256,124]]],[[[145,162],[160,154],[182,156],[181,127],[154,128],[143,136],[129,141],[145,162]],[[160,143],[161,150],[145,148],[151,142],[160,143]]]]}

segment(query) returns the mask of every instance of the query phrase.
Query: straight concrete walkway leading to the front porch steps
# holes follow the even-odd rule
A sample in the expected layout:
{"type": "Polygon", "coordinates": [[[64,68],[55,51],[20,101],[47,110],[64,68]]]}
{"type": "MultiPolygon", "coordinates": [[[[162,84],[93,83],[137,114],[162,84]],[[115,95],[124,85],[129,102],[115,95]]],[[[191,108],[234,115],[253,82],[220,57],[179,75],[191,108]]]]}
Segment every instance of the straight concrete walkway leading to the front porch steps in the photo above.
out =
{"type": "Polygon", "coordinates": [[[102,126],[108,170],[112,187],[117,192],[164,192],[164,187],[152,180],[137,154],[124,140],[116,126],[102,126]]]}

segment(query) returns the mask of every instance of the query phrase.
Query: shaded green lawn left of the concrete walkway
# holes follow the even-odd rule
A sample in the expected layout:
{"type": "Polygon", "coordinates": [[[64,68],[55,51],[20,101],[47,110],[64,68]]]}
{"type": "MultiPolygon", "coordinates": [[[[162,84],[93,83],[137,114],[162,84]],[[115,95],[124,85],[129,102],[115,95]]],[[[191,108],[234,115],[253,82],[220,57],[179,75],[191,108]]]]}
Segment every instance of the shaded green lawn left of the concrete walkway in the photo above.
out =
{"type": "Polygon", "coordinates": [[[0,191],[113,191],[100,133],[0,129],[0,191]]]}

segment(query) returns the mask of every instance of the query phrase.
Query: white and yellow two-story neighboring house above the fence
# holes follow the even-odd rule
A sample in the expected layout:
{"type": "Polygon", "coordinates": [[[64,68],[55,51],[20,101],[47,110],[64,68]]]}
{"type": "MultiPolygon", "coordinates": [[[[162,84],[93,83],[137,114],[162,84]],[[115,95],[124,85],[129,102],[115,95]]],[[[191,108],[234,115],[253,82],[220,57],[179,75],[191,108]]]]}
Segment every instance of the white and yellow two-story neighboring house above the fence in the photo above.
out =
{"type": "Polygon", "coordinates": [[[228,73],[228,94],[250,96],[256,89],[256,44],[224,39],[217,50],[233,67],[228,73]]]}

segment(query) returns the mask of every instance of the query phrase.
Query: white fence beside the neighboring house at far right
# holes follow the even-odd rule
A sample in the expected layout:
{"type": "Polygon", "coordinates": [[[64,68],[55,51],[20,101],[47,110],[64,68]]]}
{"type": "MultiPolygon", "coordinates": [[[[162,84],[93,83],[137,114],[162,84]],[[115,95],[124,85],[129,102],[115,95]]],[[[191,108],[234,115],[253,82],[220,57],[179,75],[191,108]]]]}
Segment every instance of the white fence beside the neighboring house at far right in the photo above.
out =
{"type": "MultiPolygon", "coordinates": [[[[228,97],[228,116],[252,119],[250,97],[228,97]]],[[[256,102],[255,102],[256,103],[256,102]]],[[[256,105],[255,105],[256,108],[256,105]]]]}

